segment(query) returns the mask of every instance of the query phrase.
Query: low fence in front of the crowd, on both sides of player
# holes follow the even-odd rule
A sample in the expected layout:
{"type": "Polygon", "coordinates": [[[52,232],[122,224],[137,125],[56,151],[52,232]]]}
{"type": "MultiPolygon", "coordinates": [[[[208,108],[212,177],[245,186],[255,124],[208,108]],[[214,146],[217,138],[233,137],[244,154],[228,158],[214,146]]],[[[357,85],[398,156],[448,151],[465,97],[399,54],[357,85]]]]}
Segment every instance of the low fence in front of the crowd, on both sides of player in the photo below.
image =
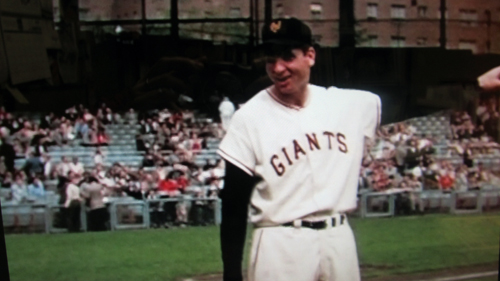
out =
{"type": "MultiPolygon", "coordinates": [[[[2,202],[4,230],[6,233],[67,232],[63,207],[50,202],[2,202]]],[[[109,198],[106,210],[106,229],[111,231],[173,225],[219,225],[221,222],[221,201],[218,198],[109,198]]],[[[352,216],[374,218],[424,213],[471,214],[498,210],[498,188],[451,192],[394,189],[385,192],[360,192],[358,208],[352,216]]],[[[80,231],[88,231],[89,211],[90,209],[82,204],[79,216],[80,231]]]]}

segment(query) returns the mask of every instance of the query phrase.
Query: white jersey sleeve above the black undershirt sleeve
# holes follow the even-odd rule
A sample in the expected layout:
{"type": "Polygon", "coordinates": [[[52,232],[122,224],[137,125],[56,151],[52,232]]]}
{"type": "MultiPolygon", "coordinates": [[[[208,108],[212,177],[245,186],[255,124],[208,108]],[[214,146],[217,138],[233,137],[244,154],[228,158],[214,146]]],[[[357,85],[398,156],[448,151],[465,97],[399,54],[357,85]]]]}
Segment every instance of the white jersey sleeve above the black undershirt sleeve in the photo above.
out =
{"type": "Polygon", "coordinates": [[[237,111],[217,153],[250,176],[255,175],[255,153],[250,141],[249,120],[237,111]]]}

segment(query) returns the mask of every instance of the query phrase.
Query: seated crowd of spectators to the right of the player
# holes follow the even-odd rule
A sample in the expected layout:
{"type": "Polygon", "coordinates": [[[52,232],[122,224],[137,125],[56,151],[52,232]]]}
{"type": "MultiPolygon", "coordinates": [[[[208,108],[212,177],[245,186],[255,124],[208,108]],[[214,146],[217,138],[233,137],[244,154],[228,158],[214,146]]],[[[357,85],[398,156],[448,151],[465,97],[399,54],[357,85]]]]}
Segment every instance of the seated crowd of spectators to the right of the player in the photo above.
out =
{"type": "Polygon", "coordinates": [[[359,190],[411,192],[415,209],[415,191],[466,191],[498,185],[498,171],[474,160],[495,153],[498,143],[463,111],[451,114],[450,130],[452,139],[438,140],[419,132],[411,121],[381,127],[365,149],[359,190]]]}

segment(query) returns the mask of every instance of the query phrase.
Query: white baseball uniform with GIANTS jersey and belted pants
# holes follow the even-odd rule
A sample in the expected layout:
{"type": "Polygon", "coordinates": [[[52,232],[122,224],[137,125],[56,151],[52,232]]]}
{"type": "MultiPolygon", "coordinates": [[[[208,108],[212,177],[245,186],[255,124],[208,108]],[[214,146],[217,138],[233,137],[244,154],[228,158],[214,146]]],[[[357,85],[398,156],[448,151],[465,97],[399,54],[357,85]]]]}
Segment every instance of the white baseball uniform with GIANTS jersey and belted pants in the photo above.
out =
{"type": "Polygon", "coordinates": [[[359,280],[352,231],[339,222],[356,208],[364,141],[375,137],[380,99],[311,84],[308,93],[296,108],[269,89],[259,92],[234,114],[219,147],[226,161],[262,178],[251,196],[249,280],[359,280]],[[300,227],[300,220],[328,227],[300,227]]]}

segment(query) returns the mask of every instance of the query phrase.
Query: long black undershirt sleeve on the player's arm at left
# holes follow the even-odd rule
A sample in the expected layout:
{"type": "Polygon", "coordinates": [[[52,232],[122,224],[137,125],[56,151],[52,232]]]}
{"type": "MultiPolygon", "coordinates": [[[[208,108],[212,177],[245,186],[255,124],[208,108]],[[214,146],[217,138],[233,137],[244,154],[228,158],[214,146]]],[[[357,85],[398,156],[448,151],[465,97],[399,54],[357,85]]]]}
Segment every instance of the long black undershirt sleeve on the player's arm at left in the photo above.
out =
{"type": "Polygon", "coordinates": [[[240,168],[226,161],[222,199],[222,222],[220,241],[224,281],[241,281],[243,249],[248,218],[248,204],[253,187],[257,182],[240,168]]]}

